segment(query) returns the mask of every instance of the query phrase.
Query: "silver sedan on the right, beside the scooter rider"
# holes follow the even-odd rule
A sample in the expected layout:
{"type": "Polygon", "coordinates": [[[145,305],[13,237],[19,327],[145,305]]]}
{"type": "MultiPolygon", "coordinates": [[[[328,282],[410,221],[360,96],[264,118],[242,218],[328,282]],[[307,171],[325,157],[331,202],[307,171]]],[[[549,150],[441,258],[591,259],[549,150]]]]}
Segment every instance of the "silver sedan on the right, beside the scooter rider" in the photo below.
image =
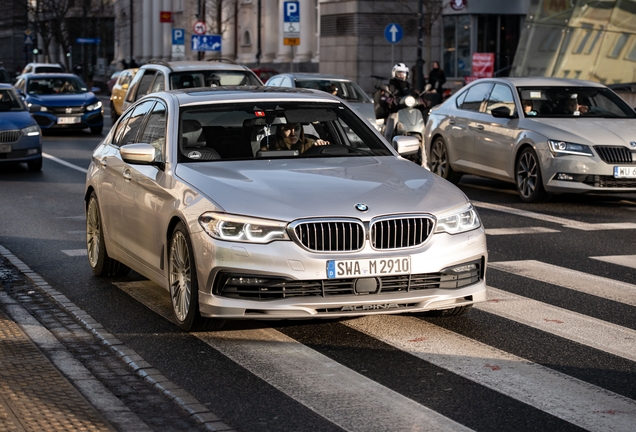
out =
{"type": "Polygon", "coordinates": [[[599,83],[474,81],[431,110],[424,145],[435,174],[515,183],[525,202],[636,192],[636,112],[599,83]]]}

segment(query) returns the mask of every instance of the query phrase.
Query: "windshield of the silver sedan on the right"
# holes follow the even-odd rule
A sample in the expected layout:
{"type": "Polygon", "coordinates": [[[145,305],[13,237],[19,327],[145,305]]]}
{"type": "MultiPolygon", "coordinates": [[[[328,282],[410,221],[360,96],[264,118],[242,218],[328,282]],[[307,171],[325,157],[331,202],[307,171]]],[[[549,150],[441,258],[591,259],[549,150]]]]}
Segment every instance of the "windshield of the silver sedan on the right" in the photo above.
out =
{"type": "Polygon", "coordinates": [[[520,87],[526,117],[636,118],[634,110],[607,88],[520,87]]]}

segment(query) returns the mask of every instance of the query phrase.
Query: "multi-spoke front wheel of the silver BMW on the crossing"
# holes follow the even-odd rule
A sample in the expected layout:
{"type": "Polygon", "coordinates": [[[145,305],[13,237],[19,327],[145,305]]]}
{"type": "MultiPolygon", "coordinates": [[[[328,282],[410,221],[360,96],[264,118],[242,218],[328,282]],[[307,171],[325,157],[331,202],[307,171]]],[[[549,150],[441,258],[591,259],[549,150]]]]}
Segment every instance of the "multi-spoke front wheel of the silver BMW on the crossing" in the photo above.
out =
{"type": "Polygon", "coordinates": [[[190,236],[179,222],[170,237],[168,266],[170,302],[177,324],[185,331],[217,330],[223,320],[204,318],[199,312],[199,283],[190,236]]]}

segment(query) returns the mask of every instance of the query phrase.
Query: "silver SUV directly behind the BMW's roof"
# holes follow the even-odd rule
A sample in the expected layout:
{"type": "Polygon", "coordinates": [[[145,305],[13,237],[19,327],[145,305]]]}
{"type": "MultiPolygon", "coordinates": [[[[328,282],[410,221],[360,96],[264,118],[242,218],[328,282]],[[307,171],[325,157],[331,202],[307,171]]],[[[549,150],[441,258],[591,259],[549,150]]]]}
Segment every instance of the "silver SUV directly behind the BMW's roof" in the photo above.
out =
{"type": "Polygon", "coordinates": [[[163,90],[262,85],[263,82],[250,68],[227,60],[150,60],[139,69],[130,83],[122,111],[145,95],[163,90]]]}

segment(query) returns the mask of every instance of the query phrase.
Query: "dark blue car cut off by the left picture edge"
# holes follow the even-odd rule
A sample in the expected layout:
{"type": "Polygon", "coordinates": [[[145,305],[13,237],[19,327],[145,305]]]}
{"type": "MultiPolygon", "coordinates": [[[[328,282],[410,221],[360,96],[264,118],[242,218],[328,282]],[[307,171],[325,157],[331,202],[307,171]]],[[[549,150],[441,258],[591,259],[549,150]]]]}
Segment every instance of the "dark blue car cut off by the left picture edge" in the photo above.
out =
{"type": "Polygon", "coordinates": [[[42,169],[42,133],[15,89],[0,84],[0,164],[16,162],[42,169]]]}

